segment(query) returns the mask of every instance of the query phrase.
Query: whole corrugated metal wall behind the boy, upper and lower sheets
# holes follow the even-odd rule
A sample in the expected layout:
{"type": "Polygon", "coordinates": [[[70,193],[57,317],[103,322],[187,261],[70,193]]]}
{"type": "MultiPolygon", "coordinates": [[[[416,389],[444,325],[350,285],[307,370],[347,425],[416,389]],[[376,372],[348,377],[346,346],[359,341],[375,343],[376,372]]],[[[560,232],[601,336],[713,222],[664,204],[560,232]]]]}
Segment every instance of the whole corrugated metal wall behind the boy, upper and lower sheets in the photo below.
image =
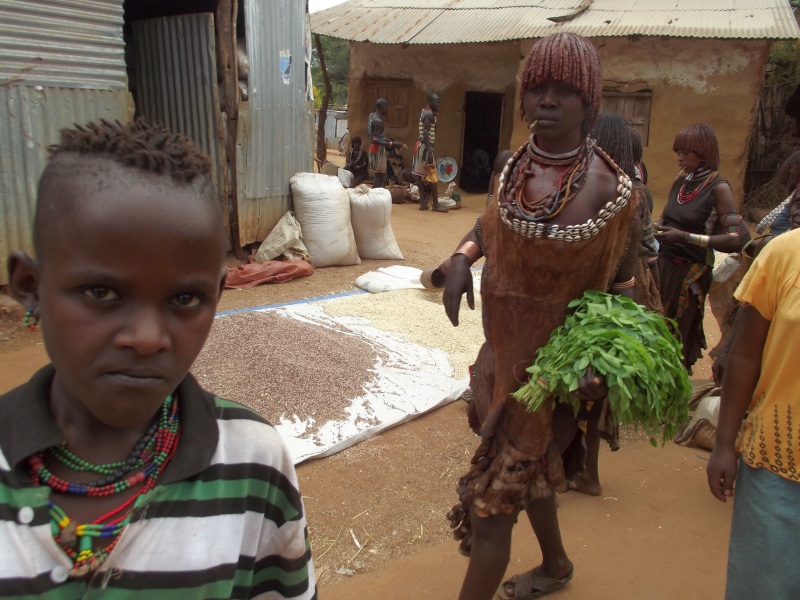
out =
{"type": "Polygon", "coordinates": [[[58,132],[132,114],[123,0],[0,0],[0,285],[33,252],[36,186],[58,132]]]}

